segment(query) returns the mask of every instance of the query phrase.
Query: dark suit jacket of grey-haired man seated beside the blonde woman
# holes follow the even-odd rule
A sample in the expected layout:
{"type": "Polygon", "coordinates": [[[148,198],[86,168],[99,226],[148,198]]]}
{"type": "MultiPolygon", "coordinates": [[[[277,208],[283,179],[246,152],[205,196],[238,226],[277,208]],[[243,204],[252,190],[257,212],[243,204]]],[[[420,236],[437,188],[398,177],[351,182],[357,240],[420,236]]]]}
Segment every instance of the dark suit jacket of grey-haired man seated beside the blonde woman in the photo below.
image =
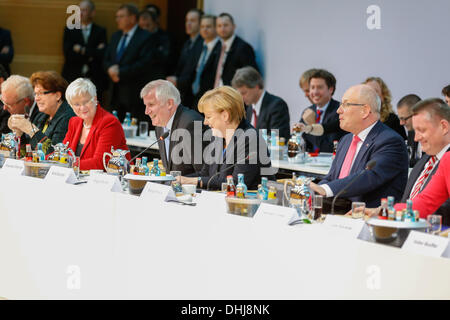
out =
{"type": "MultiPolygon", "coordinates": [[[[203,118],[187,107],[179,105],[175,112],[170,135],[169,158],[164,141],[158,140],[159,154],[166,172],[181,171],[183,176],[198,172],[203,163],[203,118]],[[195,128],[197,127],[197,130],[195,128]],[[180,141],[181,140],[181,141],[180,141]],[[178,143],[177,143],[178,142],[178,143]]],[[[157,137],[164,134],[164,128],[155,127],[157,137]]]]}

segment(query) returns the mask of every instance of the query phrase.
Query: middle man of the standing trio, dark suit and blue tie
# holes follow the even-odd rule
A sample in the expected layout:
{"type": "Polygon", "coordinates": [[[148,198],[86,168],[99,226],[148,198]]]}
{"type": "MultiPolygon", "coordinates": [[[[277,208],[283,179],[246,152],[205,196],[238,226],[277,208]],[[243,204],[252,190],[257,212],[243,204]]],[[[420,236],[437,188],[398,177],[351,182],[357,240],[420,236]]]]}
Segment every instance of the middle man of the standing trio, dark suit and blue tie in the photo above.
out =
{"type": "Polygon", "coordinates": [[[197,103],[203,94],[214,88],[214,76],[220,54],[220,40],[216,34],[216,18],[204,15],[200,21],[200,35],[203,45],[192,51],[186,68],[178,78],[178,87],[185,93],[185,99],[192,102],[188,107],[198,110],[197,103]]]}

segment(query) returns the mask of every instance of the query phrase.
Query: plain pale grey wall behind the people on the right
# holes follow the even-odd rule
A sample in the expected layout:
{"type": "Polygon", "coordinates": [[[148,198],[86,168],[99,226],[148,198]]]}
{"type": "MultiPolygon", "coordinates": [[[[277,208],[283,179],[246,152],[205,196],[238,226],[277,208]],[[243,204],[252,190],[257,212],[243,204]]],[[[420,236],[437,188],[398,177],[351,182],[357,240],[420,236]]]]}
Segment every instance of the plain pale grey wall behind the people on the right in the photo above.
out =
{"type": "Polygon", "coordinates": [[[368,76],[383,78],[394,109],[405,94],[440,97],[450,84],[449,0],[205,0],[205,12],[233,15],[291,124],[309,105],[298,82],[312,67],[336,76],[337,100],[368,76]],[[380,7],[381,29],[367,27],[370,5],[380,7]]]}

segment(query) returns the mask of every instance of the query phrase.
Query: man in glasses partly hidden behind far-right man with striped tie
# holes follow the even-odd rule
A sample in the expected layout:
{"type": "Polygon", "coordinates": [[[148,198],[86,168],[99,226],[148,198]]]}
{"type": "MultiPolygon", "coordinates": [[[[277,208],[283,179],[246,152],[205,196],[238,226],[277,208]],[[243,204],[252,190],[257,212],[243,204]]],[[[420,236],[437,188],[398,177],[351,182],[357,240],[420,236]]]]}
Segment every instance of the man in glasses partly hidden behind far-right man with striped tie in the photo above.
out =
{"type": "Polygon", "coordinates": [[[400,125],[408,132],[407,143],[409,155],[409,167],[412,168],[422,157],[422,148],[419,142],[414,140],[414,128],[412,126],[412,108],[421,99],[418,95],[408,94],[401,98],[397,104],[397,113],[400,125]]]}

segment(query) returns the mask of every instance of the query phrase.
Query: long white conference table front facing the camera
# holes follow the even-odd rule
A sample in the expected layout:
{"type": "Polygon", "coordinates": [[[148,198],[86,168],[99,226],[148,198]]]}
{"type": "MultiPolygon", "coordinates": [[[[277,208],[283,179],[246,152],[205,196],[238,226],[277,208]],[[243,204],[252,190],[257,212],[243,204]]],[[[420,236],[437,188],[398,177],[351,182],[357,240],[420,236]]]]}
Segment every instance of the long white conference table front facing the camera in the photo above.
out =
{"type": "Polygon", "coordinates": [[[163,198],[0,172],[0,297],[450,298],[450,259],[163,198]]]}

